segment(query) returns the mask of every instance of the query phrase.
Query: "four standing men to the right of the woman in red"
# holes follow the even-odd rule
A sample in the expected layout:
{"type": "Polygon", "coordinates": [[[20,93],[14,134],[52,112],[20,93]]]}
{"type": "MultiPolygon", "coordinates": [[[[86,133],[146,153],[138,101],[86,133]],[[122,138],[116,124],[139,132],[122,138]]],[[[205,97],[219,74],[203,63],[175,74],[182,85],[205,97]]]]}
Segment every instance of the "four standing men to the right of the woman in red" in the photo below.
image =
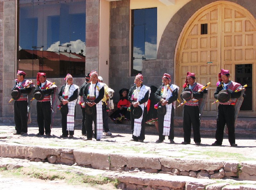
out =
{"type": "MultiPolygon", "coordinates": [[[[241,97],[241,85],[229,80],[228,70],[221,69],[219,73],[219,82],[214,93],[214,98],[220,102],[217,112],[217,130],[215,134],[216,141],[212,146],[222,145],[224,127],[227,125],[228,141],[230,146],[237,146],[235,143],[235,107],[236,100],[241,97]]],[[[150,94],[150,88],[142,84],[143,76],[138,74],[134,80],[134,86],[130,88],[128,100],[131,102],[131,129],[132,141],[141,141],[145,139],[145,117],[146,106],[150,94]],[[139,109],[139,106],[141,109],[139,109]]],[[[157,89],[155,98],[158,103],[155,105],[158,115],[159,138],[156,143],[164,141],[168,136],[170,143],[174,143],[173,116],[175,102],[178,98],[179,87],[171,83],[171,76],[164,73],[162,77],[163,84],[157,89]]],[[[183,109],[183,132],[184,141],[181,144],[190,144],[191,124],[193,127],[194,142],[201,145],[200,123],[201,116],[206,103],[208,90],[196,82],[194,73],[187,72],[187,77],[183,85],[181,99],[183,109]]],[[[238,110],[240,107],[238,106],[238,110]]],[[[237,112],[238,113],[238,112],[237,112]]]]}

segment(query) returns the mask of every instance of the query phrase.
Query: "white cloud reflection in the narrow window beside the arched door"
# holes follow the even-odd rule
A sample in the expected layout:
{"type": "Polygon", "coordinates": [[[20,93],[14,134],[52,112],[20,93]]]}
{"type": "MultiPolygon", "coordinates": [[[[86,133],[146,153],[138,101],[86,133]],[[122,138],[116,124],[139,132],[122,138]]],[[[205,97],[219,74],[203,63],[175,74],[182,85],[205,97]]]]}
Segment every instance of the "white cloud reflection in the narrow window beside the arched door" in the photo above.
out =
{"type": "Polygon", "coordinates": [[[133,69],[142,70],[142,56],[146,57],[147,60],[156,59],[156,44],[145,42],[145,55],[141,48],[133,47],[133,57],[140,58],[133,60],[133,69]]]}

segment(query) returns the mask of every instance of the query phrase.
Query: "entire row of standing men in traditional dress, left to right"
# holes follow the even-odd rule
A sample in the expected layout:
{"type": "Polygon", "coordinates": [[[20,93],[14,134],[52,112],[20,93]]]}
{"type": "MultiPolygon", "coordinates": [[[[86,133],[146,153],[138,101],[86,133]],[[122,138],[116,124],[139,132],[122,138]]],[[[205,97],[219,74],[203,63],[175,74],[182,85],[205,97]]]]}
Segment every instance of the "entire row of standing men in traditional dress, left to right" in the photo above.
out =
{"type": "MultiPolygon", "coordinates": [[[[51,135],[52,117],[56,108],[56,97],[61,102],[60,110],[62,114],[62,135],[60,137],[73,137],[75,105],[78,97],[78,104],[82,109],[82,135],[87,136],[87,140],[92,140],[93,129],[94,138],[100,141],[103,138],[103,128],[106,135],[111,135],[108,128],[108,112],[111,109],[110,97],[114,91],[104,83],[96,71],[92,71],[85,76],[85,82],[79,87],[73,84],[73,77],[67,74],[66,84],[60,88],[58,93],[57,86],[46,80],[46,74],[37,73],[37,86],[32,81],[25,80],[26,73],[18,71],[15,85],[12,88],[12,98],[14,103],[14,121],[16,133],[26,134],[28,132],[29,105],[31,94],[37,100],[37,123],[39,133],[36,135],[51,135]],[[35,89],[35,90],[34,90],[35,89]],[[78,96],[79,95],[79,96],[78,96]],[[108,106],[107,106],[108,105],[108,106]],[[93,127],[94,126],[94,127],[93,127]]],[[[241,85],[229,80],[229,71],[221,69],[219,73],[219,82],[214,93],[214,98],[220,102],[217,113],[217,130],[215,134],[216,141],[212,146],[219,146],[223,141],[224,126],[228,128],[228,141],[231,146],[237,146],[235,143],[235,104],[237,98],[241,97],[241,85]]],[[[183,131],[184,141],[181,144],[190,144],[191,124],[194,133],[194,142],[201,144],[200,120],[204,105],[206,102],[207,89],[195,82],[194,73],[187,72],[187,77],[183,85],[180,97],[184,100],[183,109],[183,131]]],[[[143,85],[142,74],[136,75],[134,86],[129,90],[128,100],[131,111],[131,131],[132,140],[145,140],[145,118],[147,114],[147,103],[150,94],[150,88],[143,85]]],[[[171,76],[164,73],[162,77],[163,84],[157,89],[155,98],[158,103],[155,105],[158,114],[159,138],[156,141],[161,143],[165,136],[168,136],[170,143],[174,143],[173,117],[175,102],[178,98],[179,87],[171,83],[171,76]]],[[[33,99],[32,99],[33,100],[33,99]]],[[[182,105],[181,104],[181,105],[182,105]]]]}

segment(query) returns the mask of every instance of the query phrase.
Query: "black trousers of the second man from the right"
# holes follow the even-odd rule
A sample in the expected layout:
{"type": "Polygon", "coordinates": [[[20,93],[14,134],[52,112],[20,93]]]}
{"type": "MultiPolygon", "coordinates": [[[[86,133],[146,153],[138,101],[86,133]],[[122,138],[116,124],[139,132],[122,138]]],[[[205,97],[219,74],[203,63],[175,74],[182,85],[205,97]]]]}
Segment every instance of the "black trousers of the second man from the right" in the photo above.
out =
{"type": "Polygon", "coordinates": [[[193,126],[194,142],[201,142],[199,107],[185,105],[183,110],[183,131],[185,142],[190,142],[191,124],[193,126]]]}

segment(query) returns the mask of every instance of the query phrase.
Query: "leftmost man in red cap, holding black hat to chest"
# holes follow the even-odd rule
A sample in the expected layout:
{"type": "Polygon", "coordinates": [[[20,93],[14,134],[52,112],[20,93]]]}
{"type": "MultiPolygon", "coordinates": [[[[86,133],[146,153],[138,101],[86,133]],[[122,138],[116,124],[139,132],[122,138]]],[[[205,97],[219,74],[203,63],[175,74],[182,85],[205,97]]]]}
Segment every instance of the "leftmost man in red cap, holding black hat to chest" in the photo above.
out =
{"type": "Polygon", "coordinates": [[[28,117],[30,116],[28,112],[28,95],[35,86],[32,81],[24,79],[25,76],[25,72],[17,72],[17,78],[11,93],[12,98],[15,100],[14,122],[16,133],[13,133],[15,135],[28,134],[28,117]]]}

